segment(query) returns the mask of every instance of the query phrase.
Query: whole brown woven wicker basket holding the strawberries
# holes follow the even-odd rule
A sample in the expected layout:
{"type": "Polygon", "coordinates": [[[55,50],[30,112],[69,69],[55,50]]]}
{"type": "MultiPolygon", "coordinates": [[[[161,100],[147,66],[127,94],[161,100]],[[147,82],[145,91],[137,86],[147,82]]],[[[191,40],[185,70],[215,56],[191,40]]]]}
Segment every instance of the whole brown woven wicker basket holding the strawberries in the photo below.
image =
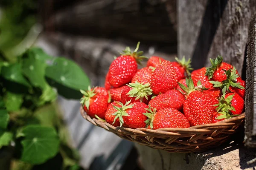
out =
{"type": "Polygon", "coordinates": [[[202,152],[209,148],[219,146],[226,142],[231,134],[236,133],[236,129],[244,122],[245,115],[245,113],[242,113],[237,117],[214,124],[198,125],[189,128],[151,130],[146,128],[131,129],[114,127],[107,122],[91,119],[82,107],[80,108],[80,112],[83,118],[93,125],[111,131],[122,139],[172,153],[202,152]]]}

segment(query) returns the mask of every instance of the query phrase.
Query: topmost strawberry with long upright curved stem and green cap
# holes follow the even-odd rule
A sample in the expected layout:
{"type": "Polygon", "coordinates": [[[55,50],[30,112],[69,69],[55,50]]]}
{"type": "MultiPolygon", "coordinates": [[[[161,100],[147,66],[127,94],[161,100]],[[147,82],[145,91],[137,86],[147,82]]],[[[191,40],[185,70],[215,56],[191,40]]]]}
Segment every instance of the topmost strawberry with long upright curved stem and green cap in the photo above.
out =
{"type": "Polygon", "coordinates": [[[137,44],[137,48],[134,52],[131,52],[129,47],[125,48],[123,54],[117,57],[109,67],[108,81],[114,87],[120,87],[125,83],[131,82],[134,74],[137,72],[137,62],[146,57],[141,56],[143,51],[138,51],[140,42],[137,44]]]}

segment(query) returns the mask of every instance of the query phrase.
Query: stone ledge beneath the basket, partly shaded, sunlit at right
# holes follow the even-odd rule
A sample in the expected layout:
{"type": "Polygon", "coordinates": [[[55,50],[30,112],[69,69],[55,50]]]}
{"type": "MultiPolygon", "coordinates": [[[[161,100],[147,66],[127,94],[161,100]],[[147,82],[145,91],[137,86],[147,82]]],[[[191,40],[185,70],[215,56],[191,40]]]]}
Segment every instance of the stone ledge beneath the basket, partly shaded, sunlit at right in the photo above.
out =
{"type": "Polygon", "coordinates": [[[168,153],[135,144],[145,170],[255,170],[255,152],[235,142],[204,153],[168,153]]]}

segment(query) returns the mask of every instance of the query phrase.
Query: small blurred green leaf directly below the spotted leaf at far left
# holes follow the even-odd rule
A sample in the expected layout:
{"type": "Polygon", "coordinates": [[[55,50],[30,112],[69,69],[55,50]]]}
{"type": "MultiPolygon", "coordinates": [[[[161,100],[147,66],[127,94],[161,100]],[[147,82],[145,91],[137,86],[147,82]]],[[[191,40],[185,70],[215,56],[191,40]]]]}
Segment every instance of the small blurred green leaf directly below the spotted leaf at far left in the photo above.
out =
{"type": "Polygon", "coordinates": [[[18,111],[23,103],[23,95],[7,91],[4,96],[7,111],[18,111]]]}

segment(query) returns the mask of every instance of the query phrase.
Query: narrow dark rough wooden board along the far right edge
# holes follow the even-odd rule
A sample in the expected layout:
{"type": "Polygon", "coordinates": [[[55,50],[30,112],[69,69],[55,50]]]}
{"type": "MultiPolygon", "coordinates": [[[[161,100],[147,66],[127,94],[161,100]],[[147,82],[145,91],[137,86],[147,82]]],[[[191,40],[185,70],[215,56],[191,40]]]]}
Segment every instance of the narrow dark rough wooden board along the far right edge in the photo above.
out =
{"type": "Polygon", "coordinates": [[[245,95],[245,145],[256,147],[256,13],[250,22],[245,95]]]}

